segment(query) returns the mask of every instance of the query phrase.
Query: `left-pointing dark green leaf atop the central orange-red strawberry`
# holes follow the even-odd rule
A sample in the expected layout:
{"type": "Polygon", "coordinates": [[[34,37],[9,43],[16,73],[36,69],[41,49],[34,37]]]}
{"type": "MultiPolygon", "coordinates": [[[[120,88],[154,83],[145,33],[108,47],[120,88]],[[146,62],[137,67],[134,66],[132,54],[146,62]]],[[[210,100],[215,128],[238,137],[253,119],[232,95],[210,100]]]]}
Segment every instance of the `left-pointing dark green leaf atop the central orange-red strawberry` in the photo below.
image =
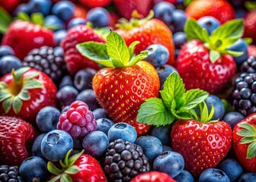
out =
{"type": "Polygon", "coordinates": [[[107,55],[107,47],[104,43],[100,42],[83,42],[76,45],[76,49],[86,58],[102,64],[106,67],[114,67],[107,55]]]}

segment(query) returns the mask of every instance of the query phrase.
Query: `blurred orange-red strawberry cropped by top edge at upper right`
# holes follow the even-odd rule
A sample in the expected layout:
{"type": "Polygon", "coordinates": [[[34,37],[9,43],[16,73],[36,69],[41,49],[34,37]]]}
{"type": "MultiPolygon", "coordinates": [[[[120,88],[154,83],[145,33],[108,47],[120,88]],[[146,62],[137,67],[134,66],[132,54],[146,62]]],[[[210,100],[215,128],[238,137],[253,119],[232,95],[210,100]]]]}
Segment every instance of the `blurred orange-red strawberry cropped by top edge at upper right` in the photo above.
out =
{"type": "Polygon", "coordinates": [[[194,0],[186,8],[188,17],[198,20],[200,17],[216,17],[221,24],[235,19],[235,10],[226,0],[194,0]]]}

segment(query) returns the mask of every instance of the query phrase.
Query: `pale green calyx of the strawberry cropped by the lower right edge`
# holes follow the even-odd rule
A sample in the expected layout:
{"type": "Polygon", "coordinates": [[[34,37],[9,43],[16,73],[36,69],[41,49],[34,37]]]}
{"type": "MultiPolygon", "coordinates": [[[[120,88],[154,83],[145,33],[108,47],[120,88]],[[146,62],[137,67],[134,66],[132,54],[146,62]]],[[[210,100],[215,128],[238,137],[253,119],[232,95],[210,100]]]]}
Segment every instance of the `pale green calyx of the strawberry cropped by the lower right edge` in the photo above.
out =
{"type": "Polygon", "coordinates": [[[246,158],[254,158],[256,156],[256,128],[245,122],[238,124],[238,127],[242,127],[237,132],[239,136],[243,137],[240,144],[248,145],[246,158]]]}

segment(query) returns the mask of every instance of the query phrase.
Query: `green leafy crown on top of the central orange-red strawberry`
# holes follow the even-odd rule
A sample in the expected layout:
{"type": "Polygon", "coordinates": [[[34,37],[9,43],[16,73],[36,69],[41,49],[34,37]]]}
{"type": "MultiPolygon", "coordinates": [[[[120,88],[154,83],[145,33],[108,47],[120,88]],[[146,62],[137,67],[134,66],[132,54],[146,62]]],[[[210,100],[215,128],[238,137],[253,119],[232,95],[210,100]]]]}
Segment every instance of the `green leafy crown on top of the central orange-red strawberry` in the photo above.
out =
{"type": "Polygon", "coordinates": [[[135,55],[134,49],[138,44],[139,41],[135,41],[127,47],[122,36],[110,32],[106,44],[89,41],[76,45],[76,49],[85,57],[104,67],[126,67],[133,66],[148,56],[149,51],[142,51],[139,55],[135,55]]]}

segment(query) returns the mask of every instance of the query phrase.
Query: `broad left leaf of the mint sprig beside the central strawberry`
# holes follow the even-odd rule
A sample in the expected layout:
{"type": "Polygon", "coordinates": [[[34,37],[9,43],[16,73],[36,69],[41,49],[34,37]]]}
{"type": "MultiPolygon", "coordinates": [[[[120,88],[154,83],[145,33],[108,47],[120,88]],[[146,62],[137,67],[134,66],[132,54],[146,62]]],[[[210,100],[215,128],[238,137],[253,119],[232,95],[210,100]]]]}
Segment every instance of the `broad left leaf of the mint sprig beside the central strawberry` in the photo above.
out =
{"type": "Polygon", "coordinates": [[[174,117],[166,110],[162,99],[150,98],[140,106],[137,121],[142,124],[160,126],[171,124],[174,117]]]}

